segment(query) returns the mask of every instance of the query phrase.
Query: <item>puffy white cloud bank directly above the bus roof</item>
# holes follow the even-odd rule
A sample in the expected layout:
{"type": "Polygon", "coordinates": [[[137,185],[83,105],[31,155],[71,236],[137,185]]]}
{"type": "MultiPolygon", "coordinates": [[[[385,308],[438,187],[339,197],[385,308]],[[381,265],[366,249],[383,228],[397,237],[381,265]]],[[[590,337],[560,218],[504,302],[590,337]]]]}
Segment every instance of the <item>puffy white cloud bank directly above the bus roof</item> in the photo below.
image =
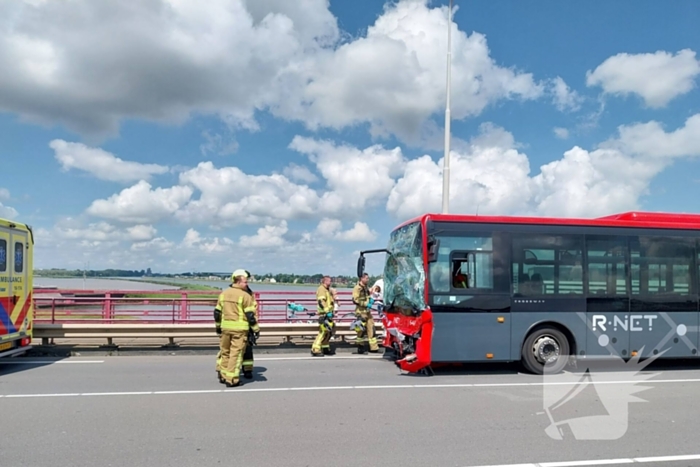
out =
{"type": "MultiPolygon", "coordinates": [[[[675,158],[700,156],[700,114],[673,132],[657,122],[620,127],[599,148],[574,147],[536,175],[514,141],[490,137],[492,127],[482,131],[468,151],[452,153],[450,212],[590,217],[638,209],[651,180],[675,158]]],[[[441,168],[429,156],[408,162],[387,211],[400,219],[439,212],[441,168]]]]}

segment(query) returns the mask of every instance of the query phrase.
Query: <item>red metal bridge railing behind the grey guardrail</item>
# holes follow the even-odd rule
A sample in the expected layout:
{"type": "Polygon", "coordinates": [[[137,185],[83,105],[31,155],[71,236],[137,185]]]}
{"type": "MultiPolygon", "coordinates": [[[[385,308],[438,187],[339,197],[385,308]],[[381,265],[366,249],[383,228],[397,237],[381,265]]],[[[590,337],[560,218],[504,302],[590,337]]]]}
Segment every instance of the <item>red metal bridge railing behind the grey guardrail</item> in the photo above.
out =
{"type": "MultiPolygon", "coordinates": [[[[36,323],[212,323],[218,291],[41,290],[33,293],[36,323]]],[[[317,322],[315,291],[255,292],[263,323],[317,322]],[[308,312],[292,313],[287,305],[308,312]],[[311,313],[311,315],[309,314],[311,313]]],[[[353,320],[350,291],[339,291],[336,321],[353,320]]],[[[379,319],[376,312],[375,319],[379,319]]]]}

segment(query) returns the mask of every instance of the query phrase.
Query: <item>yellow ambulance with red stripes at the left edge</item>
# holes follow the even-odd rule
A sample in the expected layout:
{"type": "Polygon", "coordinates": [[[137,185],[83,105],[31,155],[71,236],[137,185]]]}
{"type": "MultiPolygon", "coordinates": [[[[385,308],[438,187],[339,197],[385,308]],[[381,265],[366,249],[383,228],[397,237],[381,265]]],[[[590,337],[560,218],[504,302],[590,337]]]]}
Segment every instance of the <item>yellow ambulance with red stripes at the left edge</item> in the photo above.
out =
{"type": "Polygon", "coordinates": [[[0,357],[31,348],[33,250],[31,227],[0,219],[0,357]]]}

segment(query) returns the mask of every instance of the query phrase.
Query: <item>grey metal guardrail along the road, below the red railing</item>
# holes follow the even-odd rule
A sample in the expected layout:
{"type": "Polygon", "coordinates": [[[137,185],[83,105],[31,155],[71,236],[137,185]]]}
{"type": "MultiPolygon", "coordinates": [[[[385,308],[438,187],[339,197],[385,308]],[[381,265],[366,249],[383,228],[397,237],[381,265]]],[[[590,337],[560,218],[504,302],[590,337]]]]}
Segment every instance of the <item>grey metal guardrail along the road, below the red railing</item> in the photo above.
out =
{"type": "MultiPolygon", "coordinates": [[[[382,323],[375,321],[377,333],[382,333],[382,323]]],[[[315,336],[318,324],[309,323],[260,323],[260,337],[279,337],[290,342],[293,337],[315,336]]],[[[339,326],[336,336],[345,340],[354,336],[349,326],[339,326]]],[[[156,324],[156,323],[37,323],[34,326],[34,338],[41,339],[42,345],[50,345],[52,339],[107,339],[108,345],[114,345],[113,339],[128,338],[166,338],[170,345],[175,345],[176,338],[216,338],[213,323],[207,324],[156,324]]]]}

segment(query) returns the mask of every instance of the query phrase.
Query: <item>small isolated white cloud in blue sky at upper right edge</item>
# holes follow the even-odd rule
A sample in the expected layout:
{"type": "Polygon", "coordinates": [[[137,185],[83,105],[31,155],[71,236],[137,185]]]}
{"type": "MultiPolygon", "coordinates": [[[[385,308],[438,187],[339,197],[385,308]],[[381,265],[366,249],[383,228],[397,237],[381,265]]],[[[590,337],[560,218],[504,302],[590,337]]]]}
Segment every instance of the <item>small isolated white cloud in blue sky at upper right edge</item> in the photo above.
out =
{"type": "Polygon", "coordinates": [[[637,94],[648,107],[666,106],[695,87],[700,61],[683,49],[675,55],[656,53],[614,55],[587,72],[588,86],[601,86],[608,94],[637,94]]]}

